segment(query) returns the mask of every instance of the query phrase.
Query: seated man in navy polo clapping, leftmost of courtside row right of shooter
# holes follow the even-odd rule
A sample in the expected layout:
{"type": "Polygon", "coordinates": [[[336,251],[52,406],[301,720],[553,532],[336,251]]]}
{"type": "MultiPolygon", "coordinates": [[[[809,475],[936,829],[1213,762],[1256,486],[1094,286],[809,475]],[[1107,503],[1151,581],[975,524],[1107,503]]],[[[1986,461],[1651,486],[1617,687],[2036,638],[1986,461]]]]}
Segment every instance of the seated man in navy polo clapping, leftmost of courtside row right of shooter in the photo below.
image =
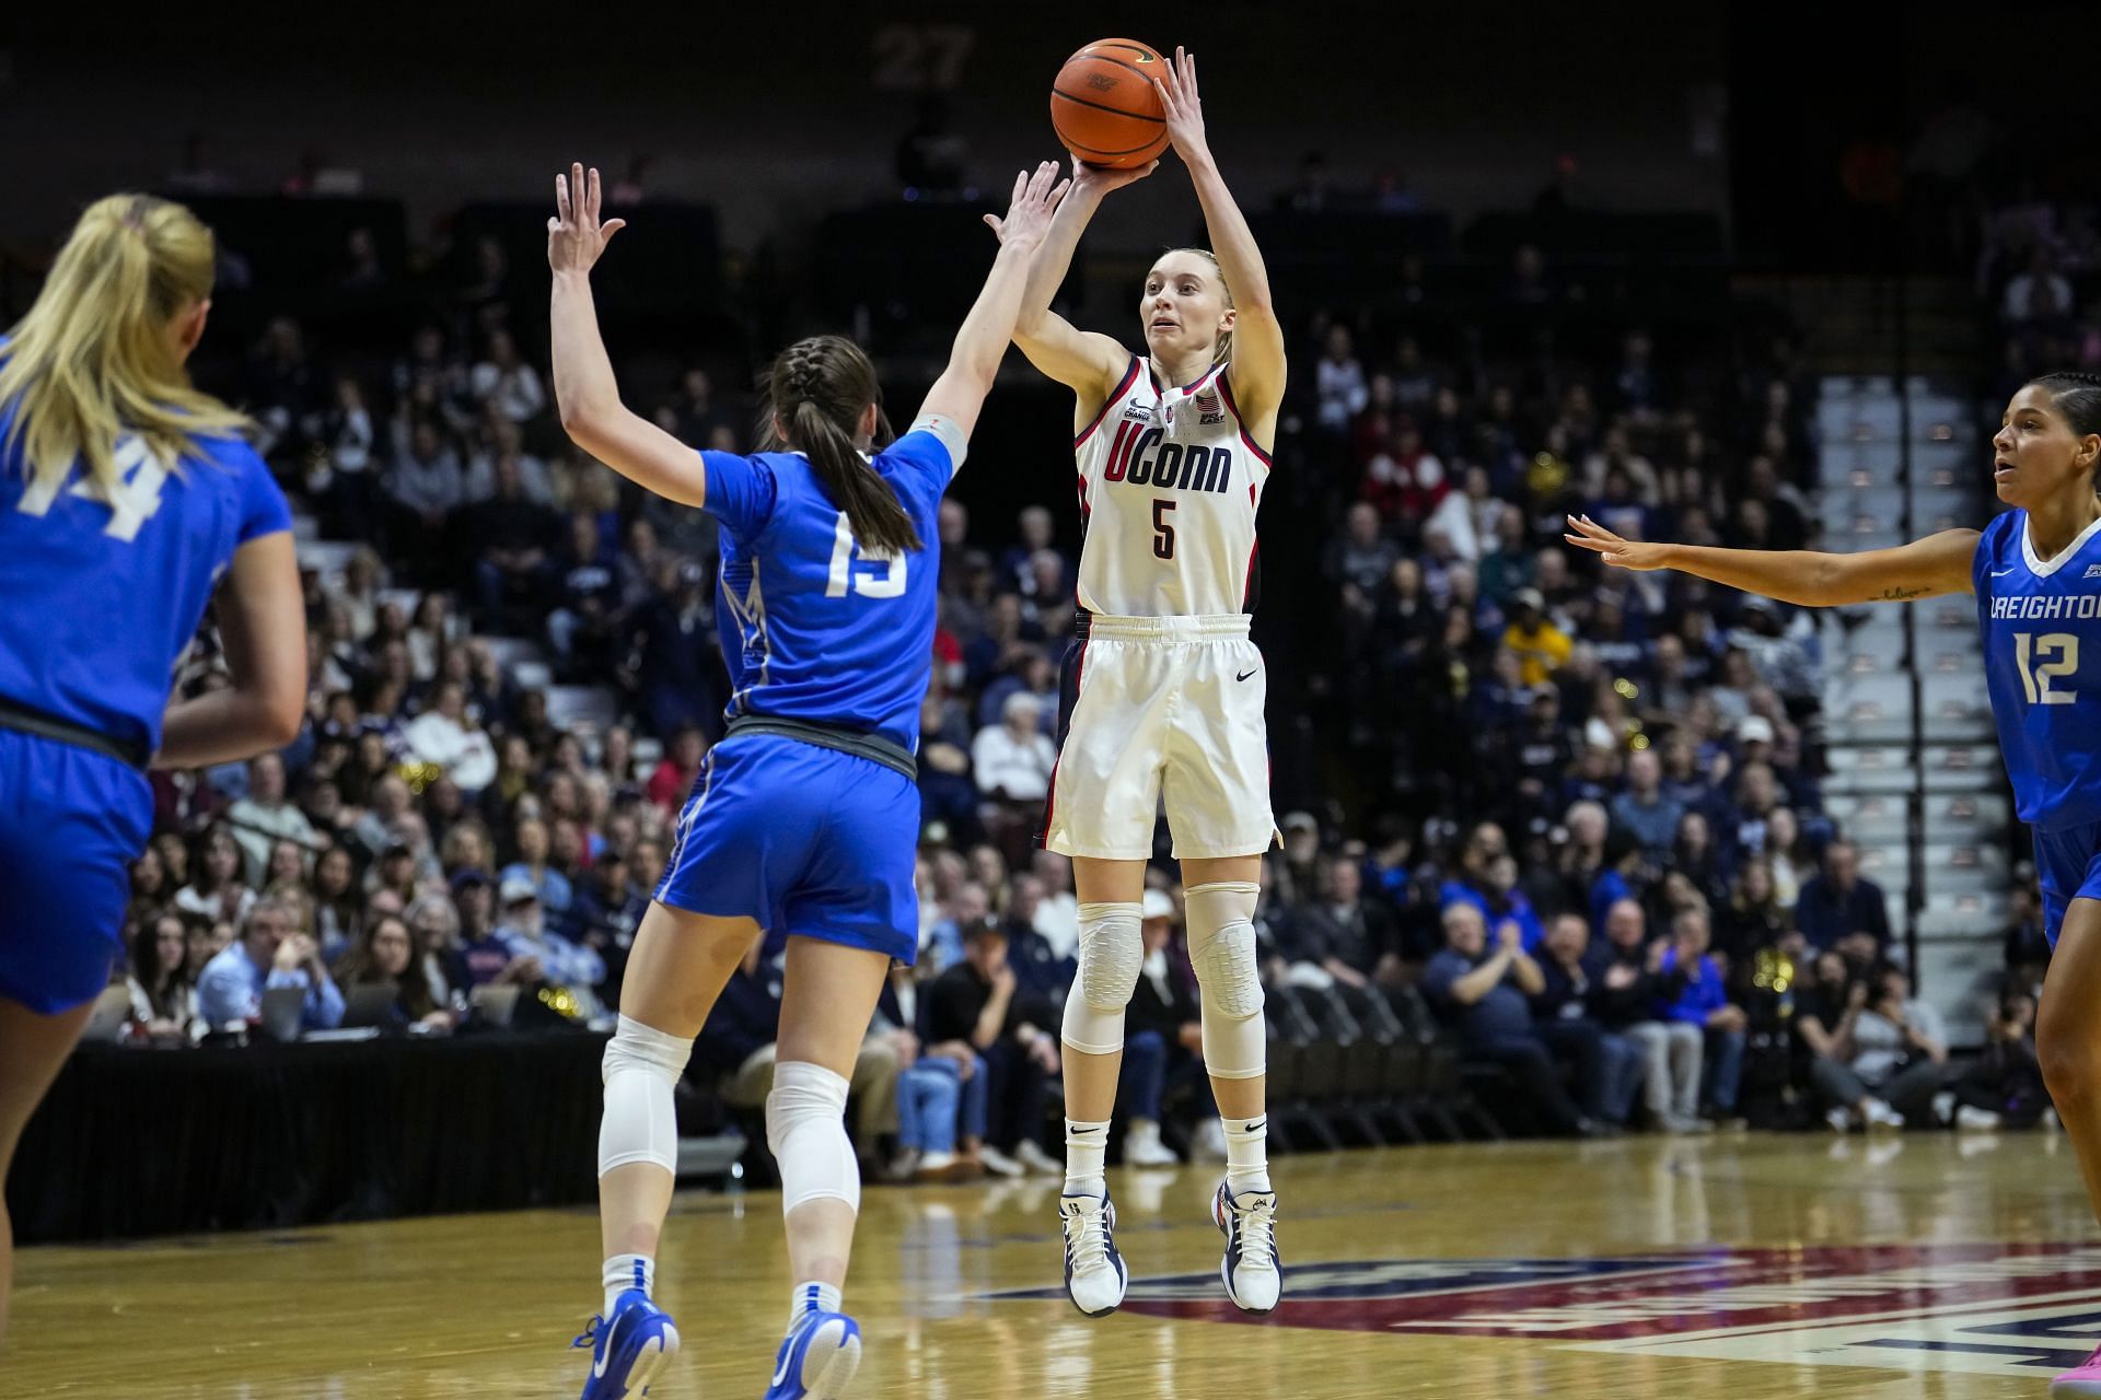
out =
{"type": "Polygon", "coordinates": [[[1605,1131],[1569,1100],[1561,1087],[1561,1066],[1532,1024],[1527,997],[1540,995],[1546,978],[1525,955],[1517,926],[1506,921],[1490,953],[1481,911],[1454,903],[1443,911],[1443,930],[1445,947],[1424,968],[1422,989],[1458,1028],[1466,1058],[1492,1060],[1509,1070],[1553,1129],[1584,1138],[1605,1131]]]}

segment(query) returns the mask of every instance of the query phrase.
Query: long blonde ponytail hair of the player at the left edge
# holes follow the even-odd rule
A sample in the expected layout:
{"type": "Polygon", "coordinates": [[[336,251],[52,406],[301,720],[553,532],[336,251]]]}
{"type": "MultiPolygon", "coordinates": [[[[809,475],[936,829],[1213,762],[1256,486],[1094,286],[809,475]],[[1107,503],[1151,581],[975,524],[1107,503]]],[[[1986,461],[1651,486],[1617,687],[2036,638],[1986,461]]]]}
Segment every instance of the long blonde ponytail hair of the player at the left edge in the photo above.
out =
{"type": "Polygon", "coordinates": [[[233,437],[248,418],[189,382],[168,325],[212,294],[212,231],[151,195],[97,199],[59,250],[29,315],[0,348],[0,447],[21,447],[32,489],[57,495],[74,464],[101,500],[122,489],[126,430],[170,468],[195,437],[233,437]]]}

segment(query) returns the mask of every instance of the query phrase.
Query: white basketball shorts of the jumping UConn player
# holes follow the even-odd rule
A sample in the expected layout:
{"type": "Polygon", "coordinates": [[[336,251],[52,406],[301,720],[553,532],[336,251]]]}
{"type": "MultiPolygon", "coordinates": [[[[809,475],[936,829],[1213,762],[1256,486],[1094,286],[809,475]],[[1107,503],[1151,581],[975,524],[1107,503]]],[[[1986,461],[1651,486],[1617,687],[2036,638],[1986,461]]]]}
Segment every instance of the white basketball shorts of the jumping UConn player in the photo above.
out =
{"type": "Polygon", "coordinates": [[[1065,724],[1040,842],[1149,861],[1166,798],[1174,858],[1269,850],[1267,674],[1246,615],[1090,615],[1065,657],[1065,724]]]}

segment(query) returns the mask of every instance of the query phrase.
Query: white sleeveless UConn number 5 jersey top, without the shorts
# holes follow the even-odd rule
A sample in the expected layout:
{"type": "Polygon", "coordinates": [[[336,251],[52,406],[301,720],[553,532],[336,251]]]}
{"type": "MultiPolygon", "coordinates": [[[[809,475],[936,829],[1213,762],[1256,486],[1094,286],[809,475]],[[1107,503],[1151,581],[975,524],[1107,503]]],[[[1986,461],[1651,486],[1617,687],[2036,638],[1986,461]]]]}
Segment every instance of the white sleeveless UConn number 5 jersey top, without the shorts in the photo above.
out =
{"type": "Polygon", "coordinates": [[[1254,510],[1269,453],[1240,422],[1227,365],[1162,388],[1132,357],[1074,439],[1080,470],[1080,607],[1109,617],[1244,613],[1254,607],[1254,510]]]}

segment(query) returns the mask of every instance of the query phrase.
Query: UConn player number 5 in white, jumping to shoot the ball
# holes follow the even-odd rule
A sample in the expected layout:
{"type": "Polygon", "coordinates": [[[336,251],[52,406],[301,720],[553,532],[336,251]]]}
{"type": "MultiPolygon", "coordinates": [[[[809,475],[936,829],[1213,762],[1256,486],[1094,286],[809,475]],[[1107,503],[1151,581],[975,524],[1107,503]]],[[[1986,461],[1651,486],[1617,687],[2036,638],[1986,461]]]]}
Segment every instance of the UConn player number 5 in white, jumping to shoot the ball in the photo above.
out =
{"type": "MultiPolygon", "coordinates": [[[[1145,275],[1145,355],[1076,330],[1050,311],[1050,296],[1080,233],[1109,191],[1153,170],[1103,170],[1076,157],[1074,189],[1036,252],[1015,330],[1029,363],[1074,390],[1086,531],[1042,842],[1072,856],[1080,896],[1080,972],[1061,1031],[1069,1117],[1059,1211],[1065,1289],[1088,1316],[1114,1312],[1128,1282],[1103,1146],[1124,1005],[1145,957],[1139,900],[1162,791],[1202,984],[1204,1064],[1227,1144],[1225,1182],[1212,1199],[1225,1232],[1221,1276],[1246,1312],[1269,1312],[1282,1293],[1252,924],[1263,852],[1277,831],[1263,655],[1248,640],[1248,609],[1254,512],[1284,399],[1284,332],[1263,254],[1204,136],[1195,59],[1177,48],[1172,67],[1160,69],[1166,136],[1195,183],[1216,252],[1174,248],[1145,275]]],[[[1061,134],[1069,134],[1063,120],[1061,134]]]]}

